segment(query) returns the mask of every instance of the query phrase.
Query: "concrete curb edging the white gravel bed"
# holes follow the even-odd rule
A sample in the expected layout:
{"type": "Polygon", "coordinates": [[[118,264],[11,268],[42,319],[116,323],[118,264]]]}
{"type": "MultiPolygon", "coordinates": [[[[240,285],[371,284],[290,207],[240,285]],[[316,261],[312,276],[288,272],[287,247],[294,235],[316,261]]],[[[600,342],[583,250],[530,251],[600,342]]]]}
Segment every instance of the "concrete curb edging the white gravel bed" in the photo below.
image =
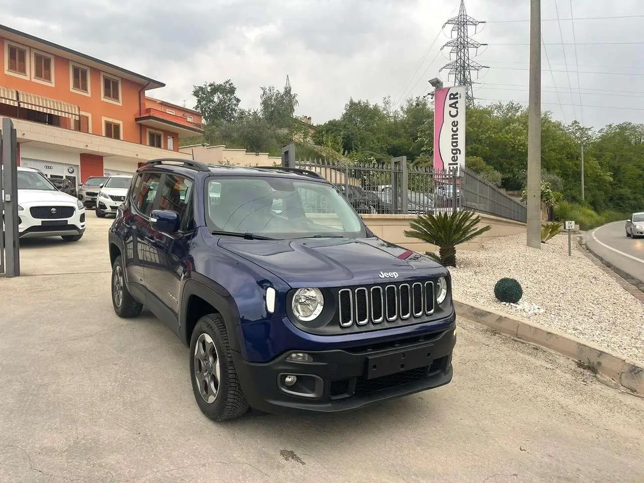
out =
{"type": "Polygon", "coordinates": [[[522,341],[545,347],[558,354],[582,361],[621,386],[644,395],[644,367],[623,355],[600,348],[564,332],[545,328],[526,319],[507,316],[473,303],[454,301],[456,313],[522,341]]]}

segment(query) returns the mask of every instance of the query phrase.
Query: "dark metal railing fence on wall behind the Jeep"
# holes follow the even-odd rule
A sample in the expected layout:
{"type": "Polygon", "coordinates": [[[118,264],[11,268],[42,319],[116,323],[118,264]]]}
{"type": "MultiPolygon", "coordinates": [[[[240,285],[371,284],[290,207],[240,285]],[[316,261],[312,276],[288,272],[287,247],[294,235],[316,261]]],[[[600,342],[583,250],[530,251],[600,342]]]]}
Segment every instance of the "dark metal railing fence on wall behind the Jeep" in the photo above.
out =
{"type": "Polygon", "coordinates": [[[460,175],[430,167],[408,166],[405,156],[390,162],[294,159],[283,166],[315,171],[345,195],[361,214],[449,213],[469,209],[526,222],[526,205],[462,170],[460,175]]]}

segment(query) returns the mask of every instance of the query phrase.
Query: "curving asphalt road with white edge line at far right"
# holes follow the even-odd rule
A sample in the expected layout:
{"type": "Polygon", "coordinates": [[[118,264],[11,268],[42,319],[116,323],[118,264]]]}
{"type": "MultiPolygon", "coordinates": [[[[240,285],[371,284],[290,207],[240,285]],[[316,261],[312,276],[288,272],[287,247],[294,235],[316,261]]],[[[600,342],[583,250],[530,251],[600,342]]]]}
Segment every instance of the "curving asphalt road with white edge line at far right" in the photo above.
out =
{"type": "Polygon", "coordinates": [[[644,285],[644,238],[627,238],[625,220],[608,223],[585,236],[591,252],[608,261],[620,274],[627,274],[637,285],[644,285]]]}

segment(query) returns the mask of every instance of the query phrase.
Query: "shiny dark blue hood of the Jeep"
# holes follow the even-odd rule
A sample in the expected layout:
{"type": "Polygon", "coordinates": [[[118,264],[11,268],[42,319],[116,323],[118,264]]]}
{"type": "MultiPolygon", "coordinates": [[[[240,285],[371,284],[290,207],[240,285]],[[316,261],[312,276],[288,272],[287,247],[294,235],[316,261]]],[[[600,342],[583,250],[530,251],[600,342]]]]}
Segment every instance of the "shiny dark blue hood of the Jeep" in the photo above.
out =
{"type": "Polygon", "coordinates": [[[339,287],[447,275],[448,270],[421,254],[379,238],[242,240],[222,237],[218,245],[260,265],[292,287],[339,287]]]}

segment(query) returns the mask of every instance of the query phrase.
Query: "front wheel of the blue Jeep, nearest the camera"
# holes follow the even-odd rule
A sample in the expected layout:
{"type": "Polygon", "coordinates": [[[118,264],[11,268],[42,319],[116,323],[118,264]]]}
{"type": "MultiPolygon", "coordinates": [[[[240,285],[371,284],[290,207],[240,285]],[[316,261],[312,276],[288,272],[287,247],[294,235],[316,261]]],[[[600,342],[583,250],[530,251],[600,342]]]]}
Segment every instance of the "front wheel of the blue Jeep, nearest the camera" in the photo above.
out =
{"type": "Polygon", "coordinates": [[[240,386],[232,361],[226,326],[220,314],[207,314],[197,321],[190,340],[189,359],[194,399],[199,409],[209,419],[227,421],[240,417],[249,410],[249,404],[243,395],[242,386],[240,386]],[[198,344],[202,356],[197,355],[198,344]],[[206,358],[209,361],[207,365],[202,363],[206,358]],[[216,370],[217,361],[219,363],[218,371],[216,370]],[[217,372],[219,380],[216,381],[217,388],[213,394],[217,372]],[[199,381],[198,377],[200,377],[199,381]],[[200,385],[204,395],[202,395],[200,385]],[[213,398],[213,400],[207,401],[206,397],[213,398]]]}

